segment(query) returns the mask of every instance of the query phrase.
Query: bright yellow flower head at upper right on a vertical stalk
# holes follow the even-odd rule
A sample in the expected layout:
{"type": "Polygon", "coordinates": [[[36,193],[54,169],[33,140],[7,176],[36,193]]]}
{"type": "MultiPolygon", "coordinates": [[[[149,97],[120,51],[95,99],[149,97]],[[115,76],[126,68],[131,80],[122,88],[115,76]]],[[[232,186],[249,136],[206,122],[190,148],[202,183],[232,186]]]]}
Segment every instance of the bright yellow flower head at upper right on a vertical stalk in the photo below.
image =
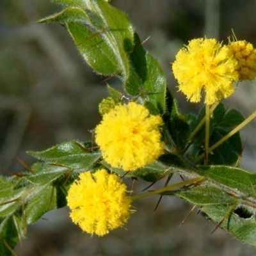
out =
{"type": "Polygon", "coordinates": [[[227,98],[238,80],[237,61],[227,46],[215,39],[199,38],[180,49],[172,65],[173,74],[191,102],[199,102],[205,91],[205,104],[227,98]]]}

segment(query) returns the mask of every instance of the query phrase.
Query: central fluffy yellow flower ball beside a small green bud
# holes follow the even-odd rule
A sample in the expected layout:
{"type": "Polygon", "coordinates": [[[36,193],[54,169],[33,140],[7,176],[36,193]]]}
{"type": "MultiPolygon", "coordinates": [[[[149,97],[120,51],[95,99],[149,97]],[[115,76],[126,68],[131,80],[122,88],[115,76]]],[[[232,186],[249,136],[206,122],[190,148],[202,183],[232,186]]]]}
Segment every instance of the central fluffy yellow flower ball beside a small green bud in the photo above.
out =
{"type": "Polygon", "coordinates": [[[95,141],[107,163],[125,171],[151,164],[163,153],[161,116],[135,102],[116,106],[95,129],[95,141]]]}

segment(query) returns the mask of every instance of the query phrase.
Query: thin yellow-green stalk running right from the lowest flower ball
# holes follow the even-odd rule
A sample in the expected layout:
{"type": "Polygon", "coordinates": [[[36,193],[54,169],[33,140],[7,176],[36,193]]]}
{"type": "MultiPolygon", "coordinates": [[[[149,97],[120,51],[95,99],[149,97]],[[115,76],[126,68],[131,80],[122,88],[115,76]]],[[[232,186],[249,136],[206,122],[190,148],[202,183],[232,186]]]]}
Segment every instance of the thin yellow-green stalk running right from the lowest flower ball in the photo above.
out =
{"type": "Polygon", "coordinates": [[[183,186],[186,186],[186,185],[196,184],[196,183],[204,181],[204,180],[205,180],[204,177],[196,177],[194,179],[186,180],[186,181],[183,181],[183,182],[179,182],[179,183],[173,184],[171,186],[167,186],[167,187],[164,187],[164,188],[156,189],[154,191],[149,191],[149,192],[147,192],[145,194],[131,196],[131,198],[132,198],[132,201],[134,201],[134,200],[138,200],[138,199],[141,199],[141,198],[145,198],[147,196],[158,195],[158,194],[160,194],[160,193],[162,193],[164,191],[172,190],[172,189],[175,189],[175,188],[180,188],[180,187],[183,187],[183,186]]]}

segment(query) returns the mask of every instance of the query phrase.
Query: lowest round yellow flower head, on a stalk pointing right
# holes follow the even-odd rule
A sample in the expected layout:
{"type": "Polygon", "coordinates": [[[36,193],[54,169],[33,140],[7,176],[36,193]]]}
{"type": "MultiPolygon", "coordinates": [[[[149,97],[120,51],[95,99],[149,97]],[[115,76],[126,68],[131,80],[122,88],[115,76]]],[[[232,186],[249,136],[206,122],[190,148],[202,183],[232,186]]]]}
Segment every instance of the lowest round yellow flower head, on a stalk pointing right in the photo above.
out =
{"type": "Polygon", "coordinates": [[[122,180],[104,169],[81,173],[68,190],[70,217],[85,232],[104,236],[129,218],[131,197],[125,193],[122,180]]]}

